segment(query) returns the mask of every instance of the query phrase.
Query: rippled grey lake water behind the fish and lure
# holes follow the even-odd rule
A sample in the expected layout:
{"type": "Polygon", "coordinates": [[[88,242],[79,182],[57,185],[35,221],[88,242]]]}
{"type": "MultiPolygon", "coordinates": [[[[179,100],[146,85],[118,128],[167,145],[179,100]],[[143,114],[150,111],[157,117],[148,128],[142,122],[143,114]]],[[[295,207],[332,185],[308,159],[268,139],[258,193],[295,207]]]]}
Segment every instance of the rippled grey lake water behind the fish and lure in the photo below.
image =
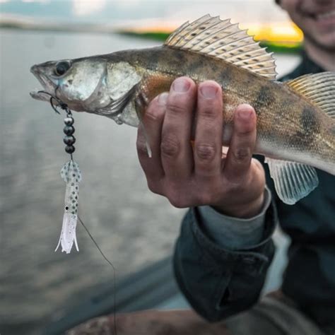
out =
{"type": "MultiPolygon", "coordinates": [[[[54,253],[65,192],[59,170],[69,159],[64,117],[30,98],[30,90],[40,87],[30,66],[157,42],[0,30],[0,44],[0,331],[38,334],[64,308],[111,282],[112,271],[80,225],[80,252],[54,253]]],[[[279,57],[279,71],[296,61],[279,57]]],[[[136,156],[136,129],[87,113],[74,117],[74,156],[83,173],[79,214],[122,278],[172,252],[184,210],[148,191],[136,156]]]]}

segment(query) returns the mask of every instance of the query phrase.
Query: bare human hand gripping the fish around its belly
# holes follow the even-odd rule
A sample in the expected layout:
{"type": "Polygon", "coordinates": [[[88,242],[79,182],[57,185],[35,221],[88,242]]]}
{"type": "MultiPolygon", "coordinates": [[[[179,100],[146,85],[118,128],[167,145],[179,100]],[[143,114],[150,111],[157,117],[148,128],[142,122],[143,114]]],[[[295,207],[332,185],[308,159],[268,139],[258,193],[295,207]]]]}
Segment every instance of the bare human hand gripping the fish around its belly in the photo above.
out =
{"type": "Polygon", "coordinates": [[[223,155],[223,103],[218,83],[206,81],[196,88],[190,78],[177,78],[170,93],[158,95],[146,110],[143,125],[152,158],[139,127],[139,160],[149,189],[173,206],[210,205],[226,215],[249,218],[259,213],[265,187],[263,167],[252,159],[256,113],[249,105],[237,107],[230,147],[223,155]]]}

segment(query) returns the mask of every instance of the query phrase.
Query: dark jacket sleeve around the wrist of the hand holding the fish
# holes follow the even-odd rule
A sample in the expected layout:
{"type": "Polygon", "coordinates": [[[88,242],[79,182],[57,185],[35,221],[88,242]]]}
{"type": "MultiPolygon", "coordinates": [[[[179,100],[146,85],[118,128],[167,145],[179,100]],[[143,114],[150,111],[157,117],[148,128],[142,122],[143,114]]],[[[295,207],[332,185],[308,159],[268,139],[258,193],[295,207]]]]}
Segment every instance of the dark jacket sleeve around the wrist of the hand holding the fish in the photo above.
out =
{"type": "Polygon", "coordinates": [[[182,221],[173,263],[177,283],[196,312],[216,322],[257,302],[274,256],[271,235],[276,221],[276,207],[271,203],[265,213],[261,242],[232,250],[205,233],[199,208],[189,209],[182,221]]]}

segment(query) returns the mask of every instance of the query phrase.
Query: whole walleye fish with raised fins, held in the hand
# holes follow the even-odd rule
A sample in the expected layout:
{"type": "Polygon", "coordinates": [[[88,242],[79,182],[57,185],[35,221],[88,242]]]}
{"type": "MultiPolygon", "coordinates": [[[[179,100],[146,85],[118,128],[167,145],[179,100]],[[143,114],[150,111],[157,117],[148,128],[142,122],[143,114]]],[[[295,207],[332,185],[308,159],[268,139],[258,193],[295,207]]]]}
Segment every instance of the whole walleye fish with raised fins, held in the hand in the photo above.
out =
{"type": "MultiPolygon", "coordinates": [[[[257,113],[257,145],[276,192],[286,204],[317,187],[315,167],[335,175],[335,73],[276,81],[271,54],[237,24],[203,16],[184,23],[164,45],[81,59],[47,61],[31,68],[45,91],[71,110],[105,115],[137,127],[148,103],[189,76],[223,88],[223,146],[229,146],[233,111],[242,103],[257,113]]],[[[49,101],[43,93],[33,98],[49,101]]]]}

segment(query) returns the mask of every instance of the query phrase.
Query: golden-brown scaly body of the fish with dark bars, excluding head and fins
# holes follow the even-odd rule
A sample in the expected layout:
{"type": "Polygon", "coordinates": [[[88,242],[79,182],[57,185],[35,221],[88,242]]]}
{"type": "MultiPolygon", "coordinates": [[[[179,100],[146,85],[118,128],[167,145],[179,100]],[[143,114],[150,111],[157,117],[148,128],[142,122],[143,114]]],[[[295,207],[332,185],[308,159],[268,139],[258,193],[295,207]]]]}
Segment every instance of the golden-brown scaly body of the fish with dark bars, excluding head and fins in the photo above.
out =
{"type": "MultiPolygon", "coordinates": [[[[282,83],[266,81],[245,69],[206,54],[157,47],[117,53],[146,77],[143,90],[149,100],[170,89],[175,78],[187,75],[196,83],[217,81],[223,88],[225,127],[233,124],[233,111],[241,103],[252,105],[257,113],[255,153],[310,164],[310,157],[327,157],[335,151],[334,136],[329,134],[329,118],[304,97],[282,83]],[[148,59],[148,52],[151,58],[148,59]],[[183,56],[180,57],[180,54],[183,56]],[[180,60],[182,59],[182,62],[180,60]],[[290,134],[290,136],[287,136],[290,134]],[[303,135],[303,136],[302,136],[303,135]]],[[[228,131],[231,134],[231,131],[228,131]]],[[[223,145],[229,144],[225,138],[223,145]]]]}

